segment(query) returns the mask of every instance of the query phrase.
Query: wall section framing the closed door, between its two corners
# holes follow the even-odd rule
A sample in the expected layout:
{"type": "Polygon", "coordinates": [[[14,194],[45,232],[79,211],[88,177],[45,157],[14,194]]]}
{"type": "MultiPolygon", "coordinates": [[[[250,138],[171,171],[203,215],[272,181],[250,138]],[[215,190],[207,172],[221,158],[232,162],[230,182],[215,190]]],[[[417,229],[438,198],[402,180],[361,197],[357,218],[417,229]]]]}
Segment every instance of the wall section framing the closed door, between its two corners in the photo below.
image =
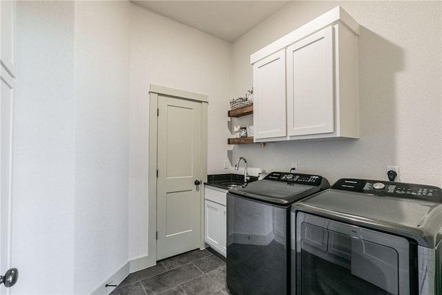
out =
{"type": "Polygon", "coordinates": [[[131,9],[130,258],[147,254],[148,89],[157,84],[209,95],[211,173],[227,159],[231,44],[135,4],[131,9]]]}

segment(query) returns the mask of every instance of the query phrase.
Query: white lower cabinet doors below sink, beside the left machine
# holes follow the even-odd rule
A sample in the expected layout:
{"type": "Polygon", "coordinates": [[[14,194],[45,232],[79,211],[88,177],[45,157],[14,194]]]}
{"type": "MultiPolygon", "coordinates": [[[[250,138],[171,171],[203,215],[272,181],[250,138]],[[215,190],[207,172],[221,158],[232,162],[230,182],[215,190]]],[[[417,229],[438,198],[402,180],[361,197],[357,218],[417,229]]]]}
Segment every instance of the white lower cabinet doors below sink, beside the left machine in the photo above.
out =
{"type": "Polygon", "coordinates": [[[206,200],[205,209],[205,241],[215,251],[226,256],[226,207],[206,200]]]}

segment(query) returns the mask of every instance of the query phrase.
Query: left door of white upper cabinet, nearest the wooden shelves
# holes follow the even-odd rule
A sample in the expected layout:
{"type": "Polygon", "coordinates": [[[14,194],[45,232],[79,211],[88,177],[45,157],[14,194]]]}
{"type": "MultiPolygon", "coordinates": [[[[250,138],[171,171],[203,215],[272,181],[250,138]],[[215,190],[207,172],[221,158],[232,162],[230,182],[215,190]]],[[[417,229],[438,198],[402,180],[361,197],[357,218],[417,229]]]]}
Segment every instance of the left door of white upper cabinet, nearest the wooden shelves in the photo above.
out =
{"type": "Polygon", "coordinates": [[[285,50],[253,64],[253,136],[286,135],[285,50]]]}

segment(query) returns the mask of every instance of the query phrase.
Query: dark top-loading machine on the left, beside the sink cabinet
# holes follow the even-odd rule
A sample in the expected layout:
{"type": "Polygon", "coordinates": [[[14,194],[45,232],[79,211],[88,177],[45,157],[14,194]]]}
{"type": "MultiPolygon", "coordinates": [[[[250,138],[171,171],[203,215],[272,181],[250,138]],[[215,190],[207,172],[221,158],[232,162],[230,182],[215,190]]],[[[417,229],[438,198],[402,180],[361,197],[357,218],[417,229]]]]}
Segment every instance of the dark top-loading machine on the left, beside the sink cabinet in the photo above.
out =
{"type": "Polygon", "coordinates": [[[320,175],[273,172],[227,193],[227,287],[232,294],[290,292],[291,204],[329,188],[320,175]]]}

